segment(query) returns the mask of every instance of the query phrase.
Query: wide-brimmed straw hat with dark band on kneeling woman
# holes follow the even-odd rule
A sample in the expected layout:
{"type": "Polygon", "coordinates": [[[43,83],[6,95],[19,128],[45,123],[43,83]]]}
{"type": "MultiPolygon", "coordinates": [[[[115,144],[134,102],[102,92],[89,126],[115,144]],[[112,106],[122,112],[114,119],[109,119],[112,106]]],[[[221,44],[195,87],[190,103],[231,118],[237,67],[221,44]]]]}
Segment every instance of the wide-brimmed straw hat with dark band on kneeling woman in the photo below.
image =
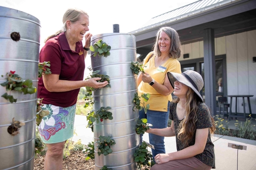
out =
{"type": "Polygon", "coordinates": [[[203,97],[199,92],[204,87],[204,80],[202,78],[202,75],[200,75],[199,73],[193,70],[187,70],[181,74],[174,73],[174,72],[167,72],[167,75],[173,89],[174,89],[174,81],[178,81],[190,87],[193,91],[195,91],[197,96],[202,100],[202,102],[204,102],[203,97]]]}

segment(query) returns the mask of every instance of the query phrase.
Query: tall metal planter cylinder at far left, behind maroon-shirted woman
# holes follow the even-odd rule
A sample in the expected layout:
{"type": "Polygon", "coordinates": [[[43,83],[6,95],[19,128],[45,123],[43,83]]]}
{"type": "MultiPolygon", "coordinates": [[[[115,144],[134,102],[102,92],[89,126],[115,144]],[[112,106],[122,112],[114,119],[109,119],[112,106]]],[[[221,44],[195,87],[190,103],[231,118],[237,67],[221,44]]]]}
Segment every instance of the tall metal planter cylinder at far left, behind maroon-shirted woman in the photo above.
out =
{"type": "MultiPolygon", "coordinates": [[[[0,83],[5,74],[15,71],[24,80],[33,80],[37,87],[40,23],[25,12],[0,6],[0,83]],[[13,40],[12,32],[20,39],[13,40]],[[17,41],[16,41],[17,40],[17,41]]],[[[34,169],[35,118],[37,94],[24,95],[12,90],[16,103],[1,97],[6,92],[0,86],[0,169],[34,169]],[[24,122],[19,134],[12,136],[7,128],[12,118],[24,122]]]]}

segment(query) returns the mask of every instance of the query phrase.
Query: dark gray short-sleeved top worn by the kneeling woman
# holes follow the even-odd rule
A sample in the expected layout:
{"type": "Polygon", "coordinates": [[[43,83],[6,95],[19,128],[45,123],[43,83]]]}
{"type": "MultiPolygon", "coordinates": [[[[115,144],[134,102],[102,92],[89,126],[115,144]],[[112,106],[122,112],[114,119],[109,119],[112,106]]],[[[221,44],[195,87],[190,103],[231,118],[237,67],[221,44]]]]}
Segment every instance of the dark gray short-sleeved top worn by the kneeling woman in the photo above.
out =
{"type": "MultiPolygon", "coordinates": [[[[176,146],[177,146],[177,151],[179,151],[186,147],[182,145],[182,142],[177,137],[177,135],[178,135],[177,129],[179,127],[181,120],[178,119],[178,116],[176,113],[176,107],[177,107],[177,103],[171,102],[169,117],[174,122],[176,146]]],[[[209,112],[209,108],[204,103],[199,104],[198,112],[196,115],[197,115],[196,129],[211,128],[211,126],[212,126],[211,115],[209,112]]],[[[195,144],[196,129],[194,130],[195,133],[194,133],[193,138],[190,140],[190,142],[188,144],[189,146],[193,146],[195,144]]],[[[206,142],[203,153],[195,155],[194,157],[197,158],[198,160],[200,160],[202,163],[204,163],[208,166],[211,166],[212,168],[215,168],[214,145],[211,141],[210,129],[209,129],[207,142],[206,142]]]]}

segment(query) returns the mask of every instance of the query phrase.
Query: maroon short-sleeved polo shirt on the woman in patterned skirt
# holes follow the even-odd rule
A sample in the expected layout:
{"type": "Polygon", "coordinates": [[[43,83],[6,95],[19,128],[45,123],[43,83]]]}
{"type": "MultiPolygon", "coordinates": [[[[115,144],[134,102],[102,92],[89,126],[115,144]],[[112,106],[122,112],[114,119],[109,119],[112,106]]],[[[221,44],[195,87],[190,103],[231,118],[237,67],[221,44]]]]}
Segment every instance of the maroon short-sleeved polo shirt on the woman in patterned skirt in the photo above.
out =
{"type": "MultiPolygon", "coordinates": [[[[84,54],[82,41],[76,43],[76,51],[70,49],[65,33],[46,41],[39,53],[39,62],[50,61],[52,74],[59,74],[60,80],[78,81],[84,78],[84,54]]],[[[69,107],[76,104],[79,89],[65,92],[50,92],[45,89],[43,78],[38,79],[38,98],[43,104],[69,107]]]]}

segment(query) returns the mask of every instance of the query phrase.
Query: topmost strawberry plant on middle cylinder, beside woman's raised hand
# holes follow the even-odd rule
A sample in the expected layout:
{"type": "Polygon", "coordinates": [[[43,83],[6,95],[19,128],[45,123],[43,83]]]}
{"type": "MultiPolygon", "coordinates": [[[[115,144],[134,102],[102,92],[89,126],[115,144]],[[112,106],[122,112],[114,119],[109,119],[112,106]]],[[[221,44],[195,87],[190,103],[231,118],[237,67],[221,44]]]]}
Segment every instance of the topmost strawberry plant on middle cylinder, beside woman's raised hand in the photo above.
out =
{"type": "Polygon", "coordinates": [[[107,57],[110,55],[110,49],[111,46],[107,45],[100,39],[96,43],[94,43],[92,46],[90,46],[90,50],[94,52],[93,57],[98,55],[103,55],[104,57],[107,57]]]}

